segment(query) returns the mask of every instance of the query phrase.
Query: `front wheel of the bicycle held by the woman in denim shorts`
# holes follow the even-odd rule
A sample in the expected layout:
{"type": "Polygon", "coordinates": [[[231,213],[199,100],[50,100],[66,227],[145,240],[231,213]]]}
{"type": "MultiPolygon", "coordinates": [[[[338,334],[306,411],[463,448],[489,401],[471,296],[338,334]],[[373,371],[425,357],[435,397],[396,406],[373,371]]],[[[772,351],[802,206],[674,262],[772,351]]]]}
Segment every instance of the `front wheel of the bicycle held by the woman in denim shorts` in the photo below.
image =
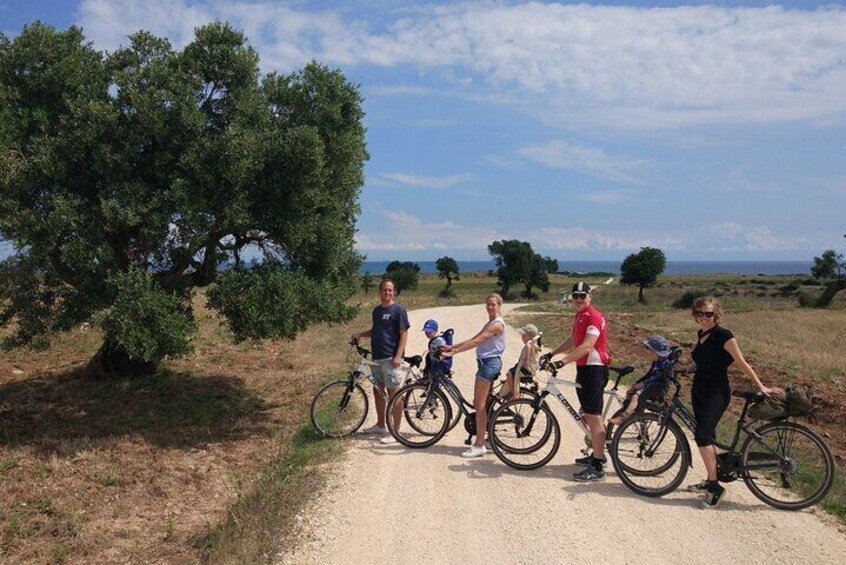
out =
{"type": "Polygon", "coordinates": [[[412,449],[434,445],[447,431],[452,408],[439,390],[433,390],[428,383],[415,383],[401,388],[388,403],[388,430],[406,447],[412,449]],[[393,410],[396,403],[402,404],[400,426],[394,425],[393,410]],[[402,425],[402,421],[408,423],[402,425]]]}

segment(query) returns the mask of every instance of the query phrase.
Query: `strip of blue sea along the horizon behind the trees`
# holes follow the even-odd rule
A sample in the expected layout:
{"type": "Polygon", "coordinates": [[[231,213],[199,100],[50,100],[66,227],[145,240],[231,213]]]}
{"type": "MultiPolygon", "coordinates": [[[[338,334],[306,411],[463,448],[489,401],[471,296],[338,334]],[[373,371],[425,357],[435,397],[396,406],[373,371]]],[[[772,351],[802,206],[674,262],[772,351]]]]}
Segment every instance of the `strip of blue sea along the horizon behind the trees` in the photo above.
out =
{"type": "MultiPolygon", "coordinates": [[[[434,261],[414,261],[421,273],[437,273],[434,261]]],[[[359,272],[380,274],[390,261],[365,261],[359,272]]],[[[559,271],[571,273],[619,273],[622,261],[558,261],[559,271]]],[[[810,276],[812,261],[667,261],[665,275],[800,275],[810,276]]],[[[490,271],[493,261],[458,261],[459,271],[490,271]]]]}

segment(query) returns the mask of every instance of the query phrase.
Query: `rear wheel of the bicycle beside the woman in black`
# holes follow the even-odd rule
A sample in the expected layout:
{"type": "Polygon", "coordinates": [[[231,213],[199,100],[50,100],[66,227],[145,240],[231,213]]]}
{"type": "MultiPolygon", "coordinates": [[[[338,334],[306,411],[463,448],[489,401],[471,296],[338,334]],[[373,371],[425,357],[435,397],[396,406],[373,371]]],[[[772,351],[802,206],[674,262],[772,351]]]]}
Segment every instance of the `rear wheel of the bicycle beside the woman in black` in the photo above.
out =
{"type": "Polygon", "coordinates": [[[743,444],[743,481],[756,497],[782,510],[821,501],[834,482],[834,456],[817,432],[792,422],[773,422],[743,444]]]}

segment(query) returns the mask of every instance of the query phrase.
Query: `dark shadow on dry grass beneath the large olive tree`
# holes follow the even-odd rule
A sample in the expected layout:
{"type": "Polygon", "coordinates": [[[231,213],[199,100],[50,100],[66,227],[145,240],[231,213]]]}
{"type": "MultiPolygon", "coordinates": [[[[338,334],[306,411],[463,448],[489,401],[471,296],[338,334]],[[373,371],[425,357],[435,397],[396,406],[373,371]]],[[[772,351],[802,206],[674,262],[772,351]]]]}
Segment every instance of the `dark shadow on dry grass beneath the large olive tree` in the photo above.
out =
{"type": "Polygon", "coordinates": [[[139,436],[160,447],[270,432],[273,406],[231,375],[160,370],[91,379],[81,369],[0,384],[0,446],[75,451],[73,440],[139,436]]]}

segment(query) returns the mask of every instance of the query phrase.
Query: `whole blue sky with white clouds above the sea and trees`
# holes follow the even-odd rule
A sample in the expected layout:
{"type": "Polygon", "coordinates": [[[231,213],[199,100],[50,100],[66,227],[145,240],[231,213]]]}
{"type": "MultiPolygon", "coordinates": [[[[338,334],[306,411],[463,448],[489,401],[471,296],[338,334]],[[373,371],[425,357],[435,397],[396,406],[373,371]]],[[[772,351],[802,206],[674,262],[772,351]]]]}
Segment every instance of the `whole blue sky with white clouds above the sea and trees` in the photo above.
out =
{"type": "MultiPolygon", "coordinates": [[[[368,259],[809,260],[846,240],[846,7],[832,2],[0,0],[104,50],[228,20],[264,71],[366,98],[368,259]]],[[[0,250],[2,251],[2,250],[0,250]]]]}

